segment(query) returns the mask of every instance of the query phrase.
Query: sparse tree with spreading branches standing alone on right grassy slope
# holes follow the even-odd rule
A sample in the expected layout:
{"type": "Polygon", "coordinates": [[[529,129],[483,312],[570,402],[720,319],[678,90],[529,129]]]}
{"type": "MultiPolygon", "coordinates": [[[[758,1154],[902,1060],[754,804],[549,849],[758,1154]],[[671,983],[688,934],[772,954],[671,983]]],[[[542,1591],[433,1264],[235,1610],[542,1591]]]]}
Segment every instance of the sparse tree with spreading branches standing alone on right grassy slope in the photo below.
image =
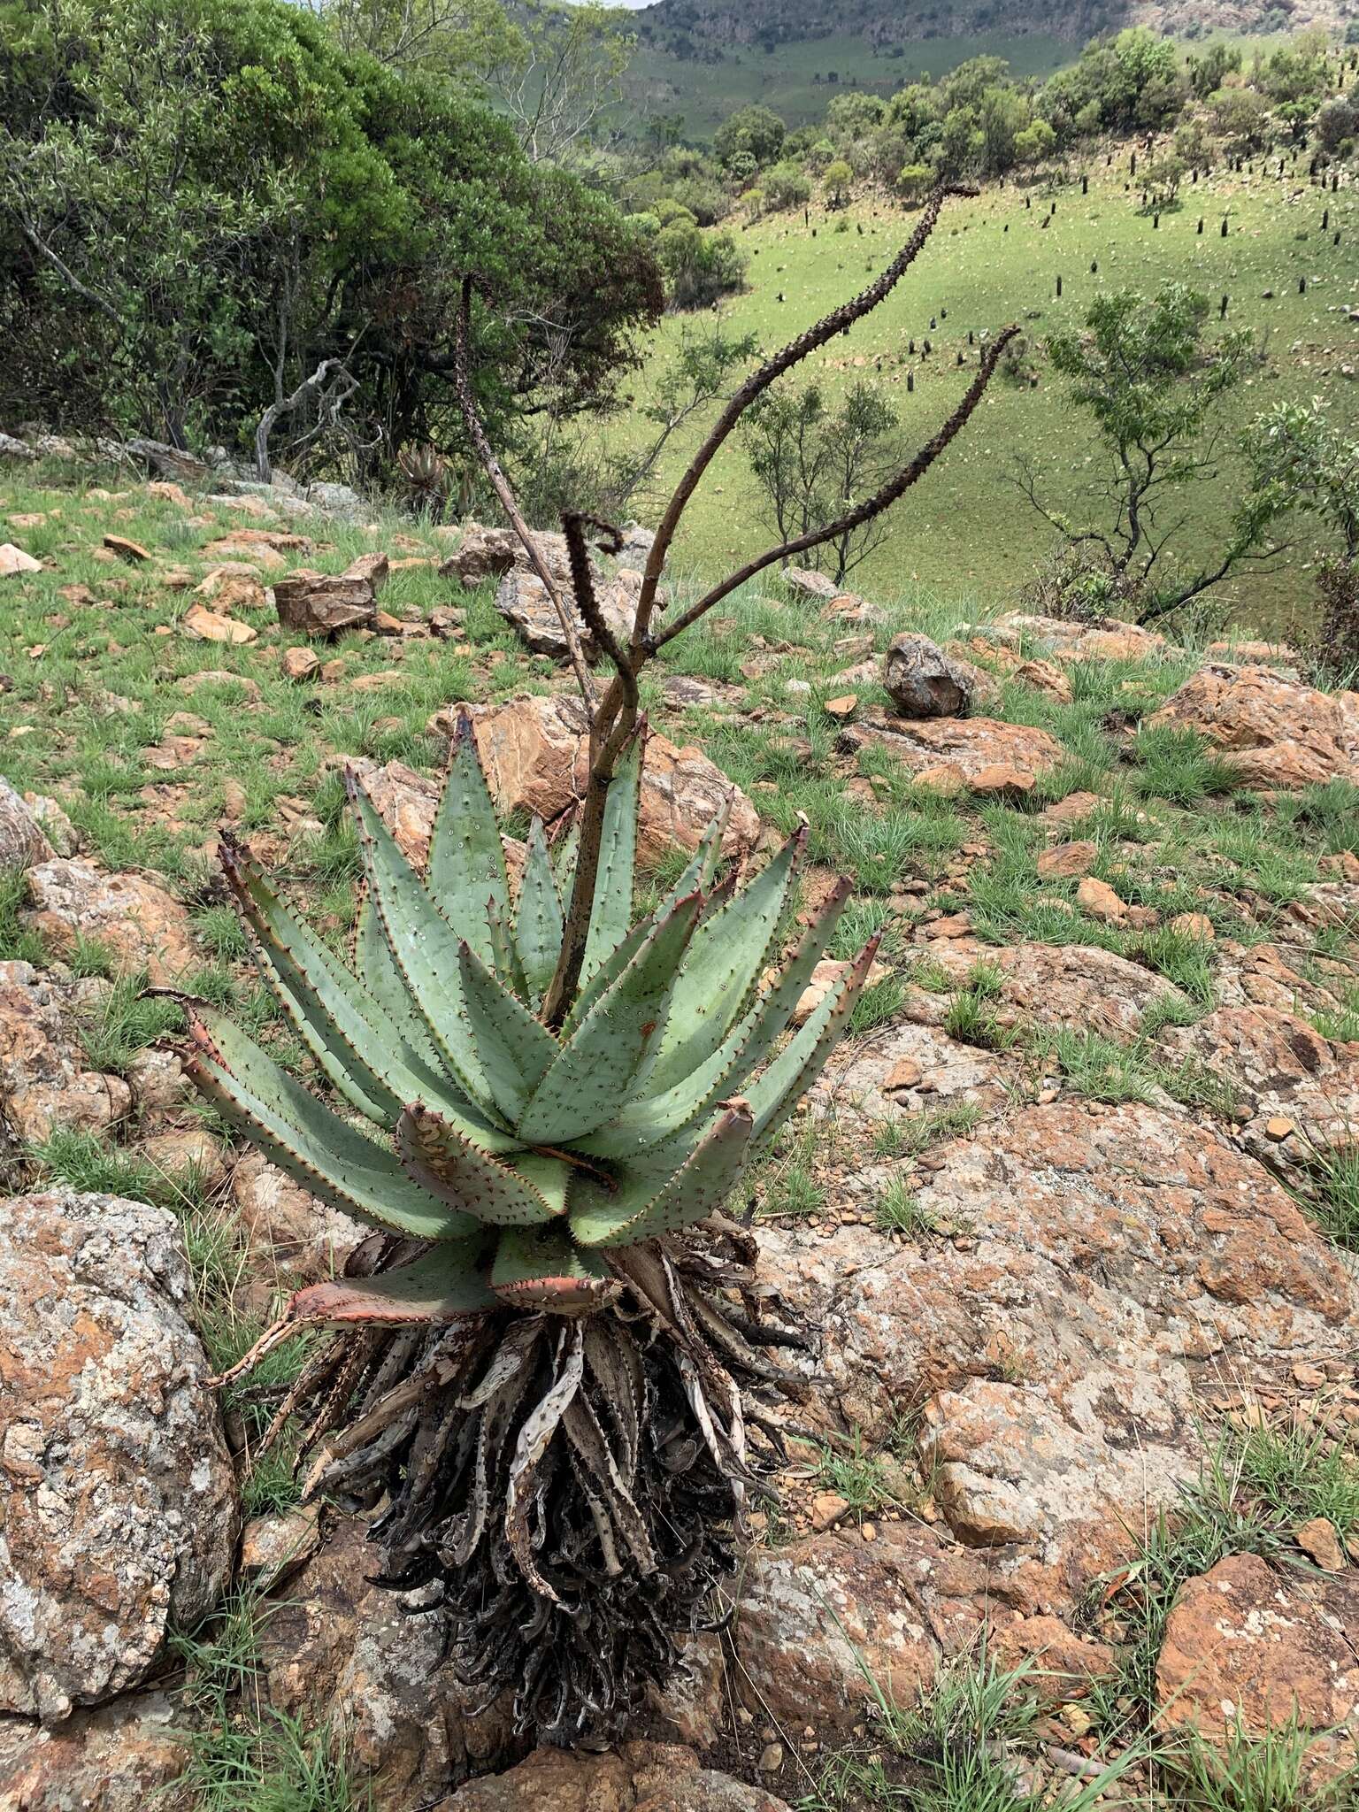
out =
{"type": "MultiPolygon", "coordinates": [[[[1018,475],[1065,545],[1098,551],[1114,587],[1147,622],[1201,596],[1243,562],[1276,553],[1258,553],[1270,507],[1256,491],[1247,491],[1223,545],[1207,560],[1185,564],[1172,549],[1192,522],[1180,506],[1219,473],[1221,399],[1241,382],[1254,355],[1248,332],[1207,342],[1207,295],[1183,284],[1151,299],[1120,290],[1094,301],[1084,332],[1055,333],[1047,357],[1100,440],[1104,469],[1089,493],[1096,520],[1082,524],[1075,513],[1049,507],[1031,466],[1018,475]]],[[[1196,525],[1192,545],[1201,542],[1196,525]]]]}

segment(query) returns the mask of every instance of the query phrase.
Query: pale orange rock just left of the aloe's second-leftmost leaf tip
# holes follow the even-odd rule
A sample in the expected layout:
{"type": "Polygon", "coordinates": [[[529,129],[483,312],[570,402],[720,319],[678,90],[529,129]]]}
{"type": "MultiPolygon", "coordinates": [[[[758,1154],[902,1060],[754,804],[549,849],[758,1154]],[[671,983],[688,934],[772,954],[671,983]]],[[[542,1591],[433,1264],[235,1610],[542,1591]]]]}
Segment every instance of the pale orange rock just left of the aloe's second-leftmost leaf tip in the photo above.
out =
{"type": "Polygon", "coordinates": [[[105,875],[91,863],[56,857],[27,872],[24,922],[51,948],[72,955],[78,939],[103,944],[127,969],[145,968],[158,988],[198,964],[188,913],[143,875],[105,875]]]}

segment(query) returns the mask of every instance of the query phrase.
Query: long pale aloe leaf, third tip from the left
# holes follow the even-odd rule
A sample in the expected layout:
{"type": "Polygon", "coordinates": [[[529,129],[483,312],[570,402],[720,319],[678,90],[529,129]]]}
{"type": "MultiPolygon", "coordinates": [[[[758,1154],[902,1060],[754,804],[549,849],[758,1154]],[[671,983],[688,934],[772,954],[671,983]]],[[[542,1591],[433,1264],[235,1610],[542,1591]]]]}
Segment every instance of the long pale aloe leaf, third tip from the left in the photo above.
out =
{"type": "Polygon", "coordinates": [[[353,776],[348,776],[348,786],[359,821],[359,848],[368,884],[406,988],[428,1022],[435,1049],[453,1080],[475,1107],[496,1122],[500,1114],[495,1096],[467,1029],[458,964],[460,939],[435,908],[382,823],[381,812],[353,776]]]}

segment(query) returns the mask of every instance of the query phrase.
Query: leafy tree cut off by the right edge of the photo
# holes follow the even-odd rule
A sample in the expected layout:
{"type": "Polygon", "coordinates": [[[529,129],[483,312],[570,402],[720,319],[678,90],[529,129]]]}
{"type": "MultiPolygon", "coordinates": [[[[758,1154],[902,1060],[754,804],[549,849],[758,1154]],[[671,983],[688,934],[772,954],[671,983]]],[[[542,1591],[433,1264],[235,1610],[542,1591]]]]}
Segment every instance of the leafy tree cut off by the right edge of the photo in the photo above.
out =
{"type": "Polygon", "coordinates": [[[1317,667],[1355,683],[1359,674],[1359,435],[1339,426],[1321,397],[1276,402],[1250,424],[1245,446],[1254,487],[1277,515],[1312,518],[1317,549],[1321,631],[1317,667]]]}

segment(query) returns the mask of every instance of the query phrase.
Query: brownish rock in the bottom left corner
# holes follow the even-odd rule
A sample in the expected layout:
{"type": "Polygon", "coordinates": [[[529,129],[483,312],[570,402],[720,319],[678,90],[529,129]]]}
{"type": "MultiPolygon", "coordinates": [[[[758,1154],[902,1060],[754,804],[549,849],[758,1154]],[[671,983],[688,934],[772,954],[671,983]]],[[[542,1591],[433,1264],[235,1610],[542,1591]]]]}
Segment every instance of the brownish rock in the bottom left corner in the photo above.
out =
{"type": "Polygon", "coordinates": [[[0,1718],[4,1812],[192,1812],[176,1785],[190,1759],[185,1707],[169,1692],[78,1711],[58,1729],[0,1718]]]}

